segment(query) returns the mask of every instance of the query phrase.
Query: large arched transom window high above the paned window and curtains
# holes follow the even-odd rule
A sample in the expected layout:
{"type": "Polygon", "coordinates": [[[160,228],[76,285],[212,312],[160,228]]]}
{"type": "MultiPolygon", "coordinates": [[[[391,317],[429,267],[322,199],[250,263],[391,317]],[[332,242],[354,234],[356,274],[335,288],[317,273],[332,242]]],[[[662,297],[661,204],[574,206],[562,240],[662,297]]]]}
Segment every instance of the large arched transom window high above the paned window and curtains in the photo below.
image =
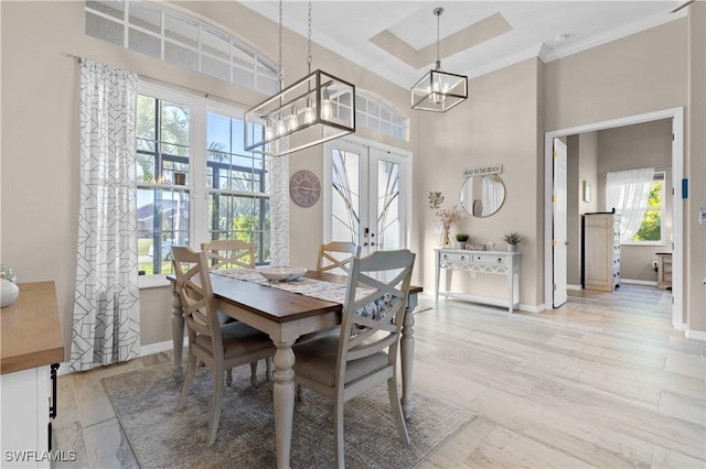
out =
{"type": "Polygon", "coordinates": [[[199,20],[145,1],[86,1],[85,12],[89,36],[267,96],[278,91],[277,66],[199,20]]]}

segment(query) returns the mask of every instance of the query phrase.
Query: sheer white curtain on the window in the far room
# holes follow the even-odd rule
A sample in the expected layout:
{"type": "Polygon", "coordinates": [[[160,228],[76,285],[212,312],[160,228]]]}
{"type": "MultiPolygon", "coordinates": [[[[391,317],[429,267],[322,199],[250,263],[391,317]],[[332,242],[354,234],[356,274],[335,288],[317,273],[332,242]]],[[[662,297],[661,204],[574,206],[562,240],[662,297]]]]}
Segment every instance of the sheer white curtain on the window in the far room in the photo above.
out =
{"type": "Polygon", "coordinates": [[[653,177],[652,167],[606,174],[606,208],[620,214],[620,242],[630,241],[640,230],[653,177]]]}

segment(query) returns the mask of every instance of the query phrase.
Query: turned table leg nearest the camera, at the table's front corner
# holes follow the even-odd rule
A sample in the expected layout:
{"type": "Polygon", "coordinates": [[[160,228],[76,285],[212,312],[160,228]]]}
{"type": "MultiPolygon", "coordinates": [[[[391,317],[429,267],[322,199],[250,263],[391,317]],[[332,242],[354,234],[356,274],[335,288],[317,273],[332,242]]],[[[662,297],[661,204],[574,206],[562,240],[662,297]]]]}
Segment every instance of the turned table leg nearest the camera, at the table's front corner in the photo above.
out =
{"type": "Polygon", "coordinates": [[[275,342],[275,384],[272,389],[275,401],[275,439],[277,441],[277,467],[289,469],[291,452],[291,427],[295,415],[295,353],[291,350],[293,341],[275,342]]]}

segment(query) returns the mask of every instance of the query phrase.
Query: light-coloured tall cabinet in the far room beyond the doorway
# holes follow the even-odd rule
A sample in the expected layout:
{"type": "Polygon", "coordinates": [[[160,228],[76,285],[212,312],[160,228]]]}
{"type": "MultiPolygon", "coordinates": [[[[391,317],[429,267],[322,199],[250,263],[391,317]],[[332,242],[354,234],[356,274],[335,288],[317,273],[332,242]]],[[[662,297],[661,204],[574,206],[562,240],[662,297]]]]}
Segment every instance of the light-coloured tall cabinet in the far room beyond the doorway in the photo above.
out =
{"type": "Polygon", "coordinates": [[[620,284],[620,216],[584,215],[584,288],[612,292],[620,284]]]}

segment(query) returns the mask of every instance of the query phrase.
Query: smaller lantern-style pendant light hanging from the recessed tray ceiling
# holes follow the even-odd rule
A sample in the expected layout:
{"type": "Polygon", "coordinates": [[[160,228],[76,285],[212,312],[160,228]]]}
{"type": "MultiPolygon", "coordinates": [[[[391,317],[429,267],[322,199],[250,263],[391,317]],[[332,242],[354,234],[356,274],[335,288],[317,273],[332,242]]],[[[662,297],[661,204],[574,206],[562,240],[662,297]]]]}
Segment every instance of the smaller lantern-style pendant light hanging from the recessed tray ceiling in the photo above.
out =
{"type": "Polygon", "coordinates": [[[442,8],[435,8],[437,17],[437,66],[411,87],[411,109],[446,112],[468,98],[468,77],[441,69],[439,58],[439,22],[442,8]]]}

